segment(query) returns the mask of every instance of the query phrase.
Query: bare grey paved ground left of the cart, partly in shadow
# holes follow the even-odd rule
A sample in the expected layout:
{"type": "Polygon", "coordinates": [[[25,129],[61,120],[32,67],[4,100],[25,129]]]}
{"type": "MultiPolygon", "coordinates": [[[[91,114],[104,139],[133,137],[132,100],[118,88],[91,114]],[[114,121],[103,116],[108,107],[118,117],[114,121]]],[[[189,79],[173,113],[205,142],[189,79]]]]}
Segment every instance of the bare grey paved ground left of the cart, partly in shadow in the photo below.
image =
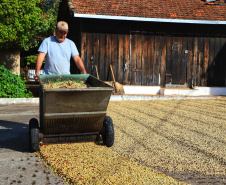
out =
{"type": "Polygon", "coordinates": [[[39,105],[0,104],[0,184],[66,184],[29,151],[28,123],[39,105]]]}

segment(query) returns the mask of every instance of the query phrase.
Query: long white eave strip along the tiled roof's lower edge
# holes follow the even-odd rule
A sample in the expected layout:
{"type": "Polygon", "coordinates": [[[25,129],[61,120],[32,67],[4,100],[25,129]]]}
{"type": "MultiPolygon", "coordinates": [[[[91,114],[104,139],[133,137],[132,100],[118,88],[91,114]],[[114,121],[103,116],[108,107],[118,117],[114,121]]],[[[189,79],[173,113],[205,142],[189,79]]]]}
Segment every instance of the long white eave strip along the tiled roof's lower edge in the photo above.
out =
{"type": "Polygon", "coordinates": [[[128,17],[128,16],[94,15],[78,13],[74,13],[74,17],[90,19],[125,20],[125,21],[226,25],[226,21],[217,21],[217,20],[211,21],[211,20],[189,20],[189,19],[164,19],[164,18],[128,17]]]}

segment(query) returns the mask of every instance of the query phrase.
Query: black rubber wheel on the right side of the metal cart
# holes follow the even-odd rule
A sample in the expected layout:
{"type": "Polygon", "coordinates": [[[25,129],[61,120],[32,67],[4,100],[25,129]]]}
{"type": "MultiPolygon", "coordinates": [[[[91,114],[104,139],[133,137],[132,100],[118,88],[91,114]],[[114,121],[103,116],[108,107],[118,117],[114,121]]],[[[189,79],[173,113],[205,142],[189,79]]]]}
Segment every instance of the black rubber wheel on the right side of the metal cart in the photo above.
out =
{"type": "Polygon", "coordinates": [[[107,145],[107,147],[111,147],[114,144],[114,126],[110,116],[105,116],[103,122],[103,143],[107,145]]]}

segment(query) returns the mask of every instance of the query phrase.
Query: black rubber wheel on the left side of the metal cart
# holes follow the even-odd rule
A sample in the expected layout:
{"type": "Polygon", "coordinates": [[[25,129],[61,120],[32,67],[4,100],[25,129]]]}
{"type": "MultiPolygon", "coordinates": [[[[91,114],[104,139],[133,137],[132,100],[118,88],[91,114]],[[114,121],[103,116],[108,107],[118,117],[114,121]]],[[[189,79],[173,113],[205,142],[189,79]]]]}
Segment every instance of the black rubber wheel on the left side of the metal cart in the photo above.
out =
{"type": "Polygon", "coordinates": [[[29,147],[32,152],[39,151],[39,126],[36,118],[29,121],[29,147]]]}

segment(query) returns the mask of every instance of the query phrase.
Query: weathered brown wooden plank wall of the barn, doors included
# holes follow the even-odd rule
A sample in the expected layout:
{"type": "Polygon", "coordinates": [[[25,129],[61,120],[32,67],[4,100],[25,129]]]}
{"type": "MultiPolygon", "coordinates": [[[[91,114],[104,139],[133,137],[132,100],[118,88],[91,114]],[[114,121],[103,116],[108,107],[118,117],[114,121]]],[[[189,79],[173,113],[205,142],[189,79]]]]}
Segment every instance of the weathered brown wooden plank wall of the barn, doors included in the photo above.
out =
{"type": "Polygon", "coordinates": [[[125,85],[226,86],[226,38],[81,33],[87,72],[125,85]]]}

